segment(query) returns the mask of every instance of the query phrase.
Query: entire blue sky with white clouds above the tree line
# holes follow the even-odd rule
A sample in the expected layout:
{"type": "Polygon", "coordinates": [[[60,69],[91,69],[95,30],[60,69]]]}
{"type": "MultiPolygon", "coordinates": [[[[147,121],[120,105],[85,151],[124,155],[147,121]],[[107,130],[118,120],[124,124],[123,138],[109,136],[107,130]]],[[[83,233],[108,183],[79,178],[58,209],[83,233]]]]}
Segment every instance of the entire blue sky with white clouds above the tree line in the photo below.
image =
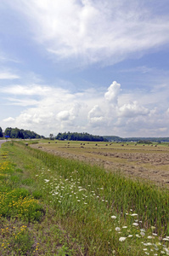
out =
{"type": "Polygon", "coordinates": [[[169,137],[168,0],[1,0],[0,126],[169,137]]]}

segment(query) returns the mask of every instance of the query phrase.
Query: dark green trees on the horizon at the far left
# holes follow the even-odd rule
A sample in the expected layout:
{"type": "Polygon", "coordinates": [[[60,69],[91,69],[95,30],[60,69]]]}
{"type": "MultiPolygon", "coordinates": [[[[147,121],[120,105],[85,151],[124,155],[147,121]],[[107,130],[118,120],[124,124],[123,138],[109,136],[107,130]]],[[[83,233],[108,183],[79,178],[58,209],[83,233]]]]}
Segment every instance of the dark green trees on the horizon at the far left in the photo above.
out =
{"type": "Polygon", "coordinates": [[[34,131],[19,129],[19,128],[11,128],[8,127],[5,129],[4,134],[3,130],[0,127],[0,137],[10,137],[10,138],[21,138],[21,139],[28,139],[28,138],[42,138],[39,134],[34,131]]]}

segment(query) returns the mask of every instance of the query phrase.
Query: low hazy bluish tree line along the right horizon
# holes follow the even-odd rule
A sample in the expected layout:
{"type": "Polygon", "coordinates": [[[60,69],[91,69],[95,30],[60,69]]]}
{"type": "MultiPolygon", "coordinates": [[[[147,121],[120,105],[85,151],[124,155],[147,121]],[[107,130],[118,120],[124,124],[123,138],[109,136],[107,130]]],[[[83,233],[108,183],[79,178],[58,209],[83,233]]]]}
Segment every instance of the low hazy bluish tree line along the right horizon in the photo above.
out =
{"type": "Polygon", "coordinates": [[[118,136],[103,136],[106,138],[109,142],[151,142],[151,143],[162,143],[162,142],[169,142],[169,137],[118,137],[118,136]]]}

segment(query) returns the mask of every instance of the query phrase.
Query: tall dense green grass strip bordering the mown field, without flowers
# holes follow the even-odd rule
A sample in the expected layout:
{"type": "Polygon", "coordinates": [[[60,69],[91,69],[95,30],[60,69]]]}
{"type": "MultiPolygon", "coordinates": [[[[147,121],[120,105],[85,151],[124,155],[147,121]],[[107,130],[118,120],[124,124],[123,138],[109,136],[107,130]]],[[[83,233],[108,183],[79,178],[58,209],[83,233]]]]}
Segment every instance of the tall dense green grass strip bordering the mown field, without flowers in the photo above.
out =
{"type": "Polygon", "coordinates": [[[62,177],[78,179],[83,188],[92,189],[107,202],[107,207],[125,216],[131,208],[146,227],[155,225],[159,233],[169,236],[169,194],[153,183],[123,177],[121,172],[105,172],[98,166],[62,159],[38,149],[26,148],[42,160],[48,168],[57,170],[62,177]],[[77,172],[75,172],[77,171],[77,172]],[[90,185],[90,187],[88,187],[90,185]],[[99,189],[103,188],[103,189],[99,189]]]}

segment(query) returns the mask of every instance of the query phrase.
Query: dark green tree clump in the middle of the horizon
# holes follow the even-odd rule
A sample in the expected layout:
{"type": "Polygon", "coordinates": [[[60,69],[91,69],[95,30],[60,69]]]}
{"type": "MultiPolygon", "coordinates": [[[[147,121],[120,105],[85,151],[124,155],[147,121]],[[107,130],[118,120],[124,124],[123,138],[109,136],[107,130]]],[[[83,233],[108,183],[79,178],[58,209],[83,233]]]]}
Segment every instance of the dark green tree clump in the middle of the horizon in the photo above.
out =
{"type": "Polygon", "coordinates": [[[69,140],[69,141],[88,141],[88,142],[107,142],[108,140],[101,136],[96,136],[88,134],[87,132],[78,133],[78,132],[64,132],[55,137],[57,140],[69,140]]]}

